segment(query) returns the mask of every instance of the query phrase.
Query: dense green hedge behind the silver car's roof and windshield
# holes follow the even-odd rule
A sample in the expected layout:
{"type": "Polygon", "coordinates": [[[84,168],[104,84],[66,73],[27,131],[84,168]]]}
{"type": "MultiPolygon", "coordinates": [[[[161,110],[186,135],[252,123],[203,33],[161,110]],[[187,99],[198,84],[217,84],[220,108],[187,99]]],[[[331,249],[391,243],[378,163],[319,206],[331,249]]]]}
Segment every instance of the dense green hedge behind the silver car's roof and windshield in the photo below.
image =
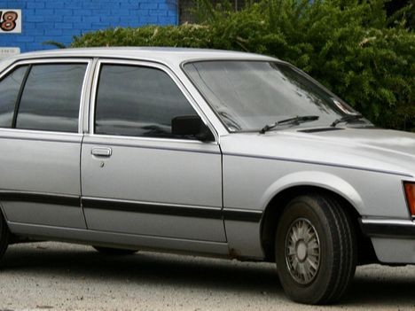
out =
{"type": "Polygon", "coordinates": [[[195,5],[198,25],[112,28],[72,47],[176,46],[251,51],[300,67],[375,124],[415,131],[412,7],[387,18],[384,0],[262,0],[234,12],[195,5]],[[406,20],[408,19],[408,20],[406,20]]]}

